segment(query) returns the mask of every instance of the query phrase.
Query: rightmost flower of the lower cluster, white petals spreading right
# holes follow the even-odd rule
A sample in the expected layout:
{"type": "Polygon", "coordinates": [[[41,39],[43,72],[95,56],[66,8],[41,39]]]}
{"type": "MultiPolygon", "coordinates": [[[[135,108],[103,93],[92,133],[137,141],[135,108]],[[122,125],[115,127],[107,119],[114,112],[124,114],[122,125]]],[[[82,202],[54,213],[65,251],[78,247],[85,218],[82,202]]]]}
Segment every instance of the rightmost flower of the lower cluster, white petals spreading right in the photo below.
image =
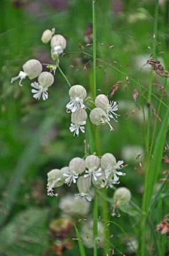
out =
{"type": "Polygon", "coordinates": [[[112,184],[118,184],[119,183],[119,177],[118,176],[124,176],[125,173],[117,172],[117,169],[123,168],[123,161],[116,162],[116,158],[113,154],[106,153],[101,158],[101,167],[105,170],[105,176],[106,179],[109,178],[112,179],[112,184]],[[118,175],[118,176],[117,176],[118,175]]]}

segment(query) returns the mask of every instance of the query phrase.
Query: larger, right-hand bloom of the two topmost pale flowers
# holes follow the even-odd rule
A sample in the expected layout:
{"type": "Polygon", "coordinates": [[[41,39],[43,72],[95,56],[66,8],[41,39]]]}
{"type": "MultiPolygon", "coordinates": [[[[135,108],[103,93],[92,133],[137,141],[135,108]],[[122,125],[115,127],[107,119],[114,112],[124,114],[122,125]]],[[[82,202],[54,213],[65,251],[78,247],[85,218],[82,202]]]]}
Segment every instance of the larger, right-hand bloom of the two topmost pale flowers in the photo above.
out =
{"type": "Polygon", "coordinates": [[[66,39],[62,35],[54,35],[51,39],[51,56],[56,60],[63,50],[66,48],[66,39]]]}

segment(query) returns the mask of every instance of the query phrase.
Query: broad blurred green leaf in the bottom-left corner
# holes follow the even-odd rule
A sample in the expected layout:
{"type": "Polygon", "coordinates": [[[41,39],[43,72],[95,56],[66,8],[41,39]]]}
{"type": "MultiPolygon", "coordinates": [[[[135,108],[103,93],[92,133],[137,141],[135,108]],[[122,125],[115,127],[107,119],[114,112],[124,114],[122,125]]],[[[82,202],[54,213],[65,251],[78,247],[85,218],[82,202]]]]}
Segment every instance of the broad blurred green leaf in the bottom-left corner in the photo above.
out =
{"type": "Polygon", "coordinates": [[[0,233],[0,254],[4,256],[44,255],[47,247],[45,222],[48,210],[31,208],[18,213],[0,233]]]}

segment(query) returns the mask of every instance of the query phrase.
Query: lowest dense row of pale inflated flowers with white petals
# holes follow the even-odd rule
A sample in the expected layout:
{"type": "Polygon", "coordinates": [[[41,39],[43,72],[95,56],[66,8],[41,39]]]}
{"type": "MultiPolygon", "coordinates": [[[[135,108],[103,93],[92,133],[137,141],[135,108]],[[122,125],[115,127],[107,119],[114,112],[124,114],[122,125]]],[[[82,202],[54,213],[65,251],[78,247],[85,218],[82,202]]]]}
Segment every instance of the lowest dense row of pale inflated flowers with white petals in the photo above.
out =
{"type": "Polygon", "coordinates": [[[123,161],[116,161],[113,154],[106,153],[101,159],[97,155],[88,155],[86,159],[75,157],[71,159],[69,166],[62,169],[54,169],[48,173],[47,190],[48,195],[55,195],[53,188],[60,187],[64,183],[71,185],[76,183],[80,196],[87,201],[91,201],[91,185],[98,189],[103,187],[113,187],[113,184],[119,183],[118,176],[124,176],[125,173],[118,170],[123,168],[123,161]]]}

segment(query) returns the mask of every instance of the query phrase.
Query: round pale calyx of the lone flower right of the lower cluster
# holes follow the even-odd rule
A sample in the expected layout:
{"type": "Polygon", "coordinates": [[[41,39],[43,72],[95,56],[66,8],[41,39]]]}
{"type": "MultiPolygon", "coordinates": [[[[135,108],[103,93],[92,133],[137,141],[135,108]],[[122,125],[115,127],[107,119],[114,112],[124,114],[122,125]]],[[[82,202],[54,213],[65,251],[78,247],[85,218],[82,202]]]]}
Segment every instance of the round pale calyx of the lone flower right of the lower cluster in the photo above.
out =
{"type": "Polygon", "coordinates": [[[128,188],[125,188],[125,187],[118,188],[114,192],[114,201],[115,201],[115,203],[117,203],[117,205],[129,203],[131,197],[132,197],[132,195],[131,195],[130,191],[128,190],[128,188]]]}

